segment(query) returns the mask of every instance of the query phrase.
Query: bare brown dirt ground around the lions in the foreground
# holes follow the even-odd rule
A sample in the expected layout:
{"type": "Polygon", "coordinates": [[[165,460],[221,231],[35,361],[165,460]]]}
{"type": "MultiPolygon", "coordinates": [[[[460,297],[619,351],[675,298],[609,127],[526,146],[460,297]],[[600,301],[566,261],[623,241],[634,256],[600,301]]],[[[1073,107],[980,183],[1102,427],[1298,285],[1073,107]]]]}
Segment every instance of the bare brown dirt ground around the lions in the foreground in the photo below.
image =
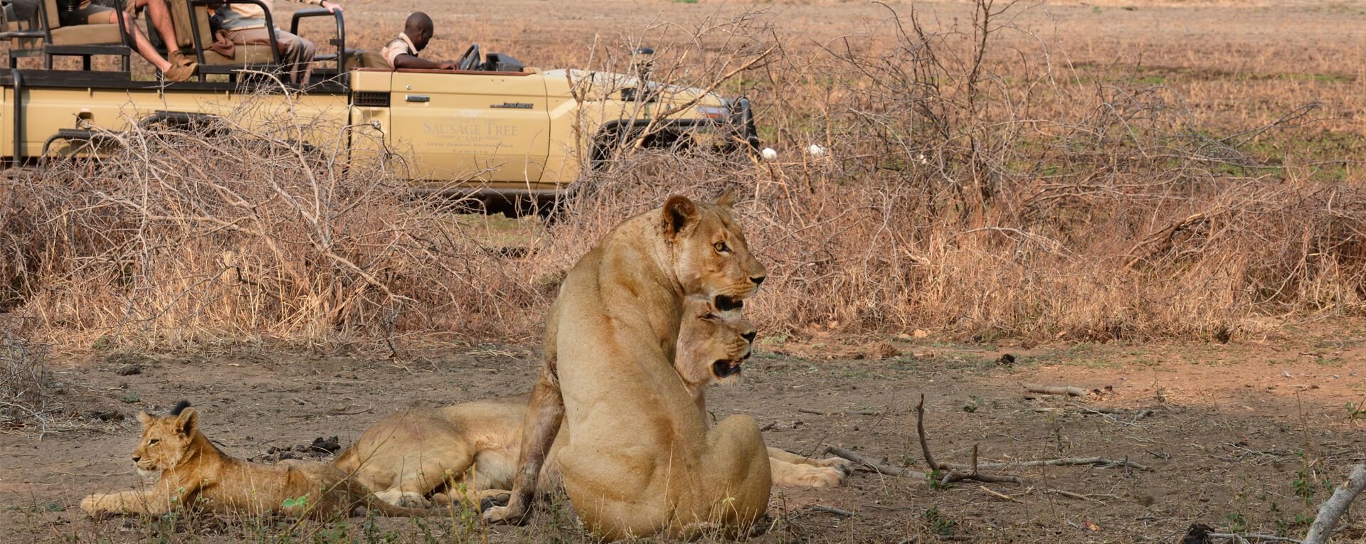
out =
{"type": "MultiPolygon", "coordinates": [[[[1105,457],[1132,463],[993,469],[1024,482],[958,482],[947,489],[861,470],[844,488],[776,489],[769,526],[757,541],[936,541],[943,534],[973,541],[1165,543],[1193,522],[1302,534],[1306,517],[1313,518],[1328,495],[1325,485],[1366,458],[1366,439],[1347,407],[1366,398],[1366,376],[1358,372],[1363,354],[1362,321],[1306,324],[1287,328],[1285,338],[1235,338],[1228,344],[1024,347],[958,344],[914,332],[841,342],[811,331],[800,343],[761,336],[744,381],[714,390],[709,406],[717,418],[750,414],[772,422],[765,432],[770,446],[816,454],[836,444],[923,470],[914,432],[914,406],[923,394],[926,433],[941,462],[968,462],[978,446],[982,462],[1105,457]],[[1322,332],[1325,327],[1330,332],[1322,332]],[[1003,361],[1005,354],[1014,362],[1003,361]],[[1022,383],[1070,384],[1102,395],[1070,403],[1029,394],[1022,383]],[[1100,409],[1121,411],[1089,411],[1100,409]],[[1154,413],[1135,418],[1141,409],[1154,413]],[[854,515],[816,511],[817,504],[854,515]]],[[[138,409],[167,410],[189,399],[227,452],[260,458],[317,437],[337,436],[344,446],[404,407],[520,392],[531,383],[537,357],[537,347],[523,343],[429,349],[403,359],[232,350],[60,361],[55,372],[72,413],[70,429],[55,426],[41,439],[36,429],[0,435],[0,526],[8,528],[3,540],[257,540],[253,526],[240,521],[158,532],[130,519],[94,522],[75,504],[94,491],[139,485],[127,458],[138,409]]],[[[559,507],[542,507],[526,528],[466,533],[436,522],[430,530],[456,540],[587,539],[550,510],[559,507]]],[[[362,523],[354,518],[351,526],[361,532],[362,523]]],[[[325,528],[310,522],[303,530],[325,528]]],[[[408,519],[384,519],[376,530],[396,541],[421,541],[408,519]]],[[[1366,536],[1348,530],[1352,539],[1366,536]]]]}

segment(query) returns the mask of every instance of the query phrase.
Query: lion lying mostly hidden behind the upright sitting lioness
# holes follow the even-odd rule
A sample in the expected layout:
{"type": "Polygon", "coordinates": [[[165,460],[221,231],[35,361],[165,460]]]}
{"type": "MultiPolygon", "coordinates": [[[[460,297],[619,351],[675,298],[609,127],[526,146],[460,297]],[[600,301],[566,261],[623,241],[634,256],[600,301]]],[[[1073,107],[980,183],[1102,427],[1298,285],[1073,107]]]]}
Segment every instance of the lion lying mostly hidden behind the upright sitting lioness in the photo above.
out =
{"type": "MultiPolygon", "coordinates": [[[[710,420],[705,388],[738,381],[753,340],[754,327],[739,312],[723,317],[706,301],[688,301],[673,366],[703,420],[710,420]]],[[[527,396],[520,395],[398,413],[366,429],[333,465],[354,473],[376,499],[391,504],[429,506],[426,498],[447,478],[464,484],[464,500],[501,502],[512,485],[526,406],[527,396]],[[467,481],[464,473],[471,465],[474,481],[467,481]]],[[[545,463],[541,489],[556,485],[556,452],[552,448],[552,462],[545,463]]],[[[768,448],[768,454],[776,485],[820,488],[844,482],[844,459],[807,459],[779,448],[768,448]]]]}

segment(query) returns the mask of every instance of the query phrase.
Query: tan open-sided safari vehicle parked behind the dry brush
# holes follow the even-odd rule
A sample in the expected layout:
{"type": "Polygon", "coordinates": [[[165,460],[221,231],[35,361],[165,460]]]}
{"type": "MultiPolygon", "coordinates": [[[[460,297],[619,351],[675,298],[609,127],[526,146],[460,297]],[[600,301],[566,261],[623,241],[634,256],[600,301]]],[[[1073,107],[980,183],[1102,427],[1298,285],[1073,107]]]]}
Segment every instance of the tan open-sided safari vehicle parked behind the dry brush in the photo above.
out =
{"type": "MultiPolygon", "coordinates": [[[[320,44],[313,78],[287,90],[264,75],[279,71],[275,46],[238,45],[234,57],[209,48],[212,7],[264,7],[260,0],[168,0],[179,49],[193,51],[199,72],[187,82],[164,83],[131,77],[131,41],[122,18],[113,25],[63,27],[56,0],[27,0],[37,3],[27,18],[14,10],[20,0],[4,1],[14,3],[4,5],[0,33],[10,42],[10,70],[0,72],[0,156],[10,167],[108,153],[107,142],[116,138],[101,134],[148,123],[205,126],[247,100],[279,103],[253,111],[336,127],[331,134],[313,130],[309,144],[346,146],[342,152],[352,164],[398,154],[396,171],[413,187],[473,194],[490,205],[550,200],[617,142],[717,150],[758,142],[747,100],[649,82],[647,60],[637,63],[631,75],[542,71],[507,55],[481,55],[474,44],[454,71],[362,67],[376,64],[376,55],[347,49],[342,11],[314,8],[295,12],[290,30],[299,34],[306,18],[331,18],[335,31],[326,40],[311,37],[320,44]],[[120,57],[120,70],[90,70],[92,56],[98,55],[120,57]],[[81,57],[85,70],[51,70],[59,56],[81,57]],[[22,57],[41,57],[46,70],[18,68],[22,57]]],[[[266,26],[276,26],[269,10],[266,26]]],[[[650,53],[642,49],[635,56],[650,53]]]]}

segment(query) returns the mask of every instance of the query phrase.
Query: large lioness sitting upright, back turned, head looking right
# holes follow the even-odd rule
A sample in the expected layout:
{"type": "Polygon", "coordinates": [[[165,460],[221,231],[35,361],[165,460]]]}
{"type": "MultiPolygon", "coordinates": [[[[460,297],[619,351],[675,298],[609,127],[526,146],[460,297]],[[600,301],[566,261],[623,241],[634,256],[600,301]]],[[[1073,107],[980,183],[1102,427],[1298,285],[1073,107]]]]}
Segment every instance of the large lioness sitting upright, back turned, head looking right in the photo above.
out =
{"type": "Polygon", "coordinates": [[[772,481],[758,425],[731,416],[709,431],[672,366],[684,297],[738,310],[768,273],[732,204],[669,197],[574,265],[546,318],[511,500],[486,519],[525,519],[561,420],[564,491],[602,537],[734,532],[764,513],[772,481]]]}

